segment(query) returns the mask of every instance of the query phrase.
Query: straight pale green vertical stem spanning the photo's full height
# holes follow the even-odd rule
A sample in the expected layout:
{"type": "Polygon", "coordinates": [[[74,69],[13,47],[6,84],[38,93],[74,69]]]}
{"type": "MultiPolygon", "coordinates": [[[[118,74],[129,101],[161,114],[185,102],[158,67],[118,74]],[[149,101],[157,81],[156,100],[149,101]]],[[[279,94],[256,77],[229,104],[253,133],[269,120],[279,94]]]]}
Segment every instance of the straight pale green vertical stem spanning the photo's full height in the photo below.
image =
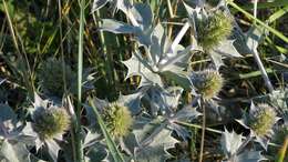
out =
{"type": "Polygon", "coordinates": [[[75,122],[75,149],[76,162],[84,161],[82,140],[81,140],[81,100],[82,100],[82,71],[83,71],[83,36],[85,22],[85,0],[80,2],[80,27],[79,27],[79,53],[78,53],[78,107],[76,107],[76,122],[75,122]]]}

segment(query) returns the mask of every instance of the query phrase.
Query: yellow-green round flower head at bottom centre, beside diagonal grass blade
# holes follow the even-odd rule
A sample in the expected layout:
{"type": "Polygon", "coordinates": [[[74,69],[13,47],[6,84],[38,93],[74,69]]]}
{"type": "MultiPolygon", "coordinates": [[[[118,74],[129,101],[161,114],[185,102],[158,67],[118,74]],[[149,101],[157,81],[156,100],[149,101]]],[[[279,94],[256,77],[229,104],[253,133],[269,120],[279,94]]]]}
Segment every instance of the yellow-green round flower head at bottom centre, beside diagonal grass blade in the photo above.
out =
{"type": "Polygon", "coordinates": [[[109,132],[114,138],[125,136],[133,124],[133,118],[127,107],[112,103],[104,108],[103,119],[106,122],[109,132]]]}

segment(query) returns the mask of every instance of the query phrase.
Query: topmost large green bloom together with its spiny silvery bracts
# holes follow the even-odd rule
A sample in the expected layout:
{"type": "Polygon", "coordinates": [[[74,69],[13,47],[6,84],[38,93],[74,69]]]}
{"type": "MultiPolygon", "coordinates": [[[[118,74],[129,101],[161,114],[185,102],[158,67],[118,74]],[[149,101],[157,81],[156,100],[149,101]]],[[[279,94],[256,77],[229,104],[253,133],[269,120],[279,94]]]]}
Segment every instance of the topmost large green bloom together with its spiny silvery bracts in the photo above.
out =
{"type": "Polygon", "coordinates": [[[195,8],[185,2],[184,6],[197,44],[202,47],[203,52],[210,55],[217,69],[224,65],[223,58],[241,57],[234,45],[234,40],[229,38],[236,22],[225,10],[222,10],[222,7],[227,8],[225,2],[220,1],[213,9],[204,8],[202,3],[196,4],[195,8]]]}

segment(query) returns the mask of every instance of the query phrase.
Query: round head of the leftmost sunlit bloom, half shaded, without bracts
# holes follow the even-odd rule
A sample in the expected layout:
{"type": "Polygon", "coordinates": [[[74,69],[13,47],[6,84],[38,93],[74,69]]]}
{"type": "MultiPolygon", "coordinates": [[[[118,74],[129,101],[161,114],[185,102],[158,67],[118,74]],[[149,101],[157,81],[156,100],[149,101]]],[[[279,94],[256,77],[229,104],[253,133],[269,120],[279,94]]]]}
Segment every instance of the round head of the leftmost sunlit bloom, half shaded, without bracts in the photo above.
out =
{"type": "Polygon", "coordinates": [[[70,115],[63,108],[40,108],[33,113],[33,129],[42,140],[62,135],[70,128],[70,115]]]}

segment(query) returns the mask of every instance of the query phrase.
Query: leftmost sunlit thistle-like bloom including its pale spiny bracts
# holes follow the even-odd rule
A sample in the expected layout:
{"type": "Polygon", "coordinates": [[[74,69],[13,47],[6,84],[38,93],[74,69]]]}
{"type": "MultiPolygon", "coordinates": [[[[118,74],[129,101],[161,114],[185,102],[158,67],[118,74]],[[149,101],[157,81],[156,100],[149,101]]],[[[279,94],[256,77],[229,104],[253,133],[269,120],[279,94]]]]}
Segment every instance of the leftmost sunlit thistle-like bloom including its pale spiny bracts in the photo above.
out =
{"type": "Polygon", "coordinates": [[[53,161],[56,161],[61,148],[55,140],[62,141],[62,135],[69,130],[70,115],[63,108],[42,100],[37,93],[33,105],[32,129],[35,132],[37,151],[44,145],[53,161]]]}

